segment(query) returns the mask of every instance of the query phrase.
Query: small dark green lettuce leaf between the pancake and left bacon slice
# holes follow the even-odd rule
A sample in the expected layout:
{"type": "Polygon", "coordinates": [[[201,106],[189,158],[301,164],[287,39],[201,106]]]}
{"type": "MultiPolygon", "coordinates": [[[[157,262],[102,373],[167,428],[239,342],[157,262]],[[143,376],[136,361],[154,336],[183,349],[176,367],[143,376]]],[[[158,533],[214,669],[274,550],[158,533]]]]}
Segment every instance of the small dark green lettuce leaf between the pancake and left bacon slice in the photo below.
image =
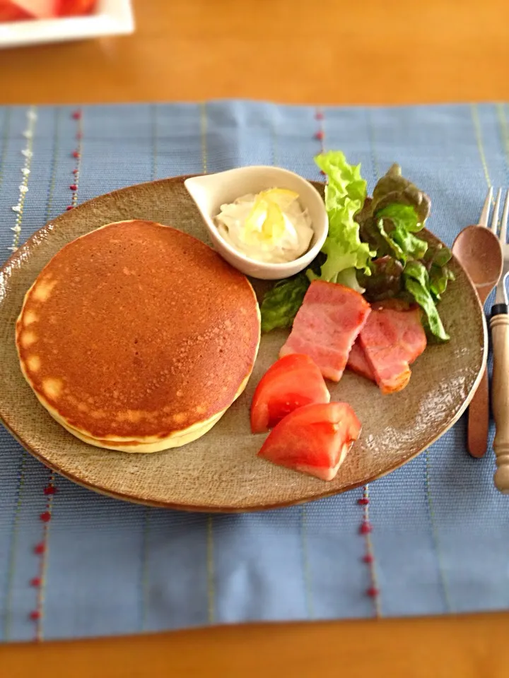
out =
{"type": "Polygon", "coordinates": [[[309,285],[305,273],[299,273],[293,278],[280,280],[266,292],[260,306],[262,332],[270,332],[277,327],[291,327],[309,285]]]}

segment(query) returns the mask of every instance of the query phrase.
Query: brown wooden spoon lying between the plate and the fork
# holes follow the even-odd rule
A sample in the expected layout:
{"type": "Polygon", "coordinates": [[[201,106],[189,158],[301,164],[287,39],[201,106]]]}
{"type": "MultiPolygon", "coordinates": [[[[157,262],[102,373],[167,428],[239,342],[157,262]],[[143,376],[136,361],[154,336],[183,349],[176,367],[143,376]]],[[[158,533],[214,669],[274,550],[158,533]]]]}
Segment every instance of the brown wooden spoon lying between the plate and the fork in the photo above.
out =
{"type": "MultiPolygon", "coordinates": [[[[503,268],[500,242],[484,226],[467,226],[452,245],[452,253],[467,272],[484,307],[503,268]]],[[[488,369],[477,386],[469,405],[467,448],[472,457],[482,457],[488,446],[489,390],[488,369]]]]}

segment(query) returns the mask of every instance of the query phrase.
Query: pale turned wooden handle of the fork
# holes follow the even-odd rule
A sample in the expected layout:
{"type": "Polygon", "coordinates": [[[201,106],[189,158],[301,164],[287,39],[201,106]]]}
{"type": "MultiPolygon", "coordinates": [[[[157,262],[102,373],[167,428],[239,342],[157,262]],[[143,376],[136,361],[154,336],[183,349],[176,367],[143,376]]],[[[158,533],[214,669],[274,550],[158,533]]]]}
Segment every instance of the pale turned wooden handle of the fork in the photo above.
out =
{"type": "Polygon", "coordinates": [[[493,342],[491,408],[496,424],[494,480],[500,492],[509,494],[509,315],[492,316],[490,327],[493,342]]]}

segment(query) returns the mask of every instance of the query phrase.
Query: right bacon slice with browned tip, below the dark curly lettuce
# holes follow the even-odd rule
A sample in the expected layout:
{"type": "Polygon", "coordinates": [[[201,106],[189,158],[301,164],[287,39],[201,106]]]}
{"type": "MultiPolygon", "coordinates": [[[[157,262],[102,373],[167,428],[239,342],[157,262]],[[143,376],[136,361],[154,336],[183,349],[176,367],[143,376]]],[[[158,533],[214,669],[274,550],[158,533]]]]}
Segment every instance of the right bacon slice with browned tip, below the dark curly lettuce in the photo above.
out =
{"type": "Polygon", "coordinates": [[[382,304],[373,307],[359,343],[380,391],[401,391],[409,383],[410,364],[426,348],[421,310],[415,307],[400,311],[382,304]]]}

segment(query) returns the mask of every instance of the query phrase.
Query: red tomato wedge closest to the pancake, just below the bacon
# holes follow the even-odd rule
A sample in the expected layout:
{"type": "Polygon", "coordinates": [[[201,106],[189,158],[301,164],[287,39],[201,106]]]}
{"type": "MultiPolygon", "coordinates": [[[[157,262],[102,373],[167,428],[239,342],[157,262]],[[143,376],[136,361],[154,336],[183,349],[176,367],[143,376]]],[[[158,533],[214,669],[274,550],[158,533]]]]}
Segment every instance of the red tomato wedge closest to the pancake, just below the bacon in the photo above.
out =
{"type": "Polygon", "coordinates": [[[251,430],[267,432],[293,410],[329,400],[330,393],[317,364],[308,355],[286,355],[269,367],[254,391],[251,430]]]}

